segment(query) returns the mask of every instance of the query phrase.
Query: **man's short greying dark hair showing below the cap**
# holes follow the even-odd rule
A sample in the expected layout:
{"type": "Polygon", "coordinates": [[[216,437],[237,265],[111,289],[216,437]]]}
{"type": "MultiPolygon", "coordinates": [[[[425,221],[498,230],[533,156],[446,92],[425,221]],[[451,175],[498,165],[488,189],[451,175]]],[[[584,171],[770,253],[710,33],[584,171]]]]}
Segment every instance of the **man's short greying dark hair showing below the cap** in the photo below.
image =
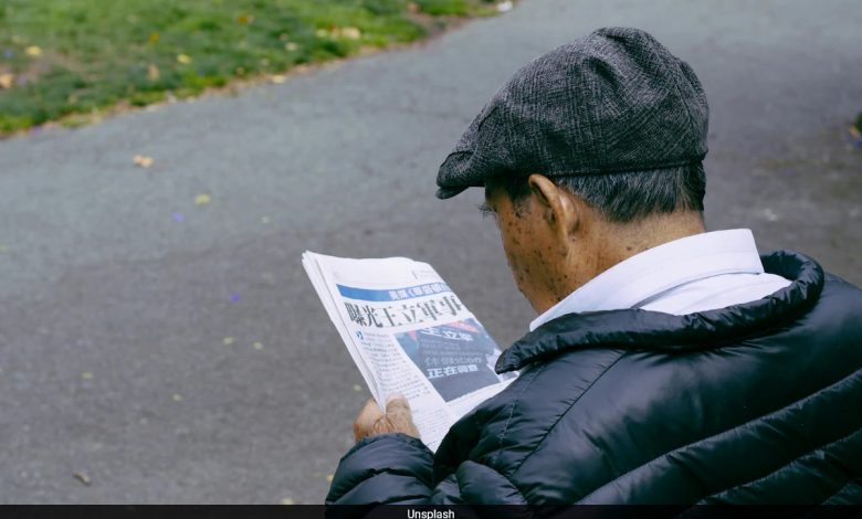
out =
{"type": "MultiPolygon", "coordinates": [[[[518,212],[523,210],[530,188],[526,178],[513,177],[498,179],[495,183],[505,190],[518,212]]],[[[555,177],[550,180],[614,223],[674,211],[703,214],[706,193],[706,173],[702,162],[648,171],[555,177]]]]}

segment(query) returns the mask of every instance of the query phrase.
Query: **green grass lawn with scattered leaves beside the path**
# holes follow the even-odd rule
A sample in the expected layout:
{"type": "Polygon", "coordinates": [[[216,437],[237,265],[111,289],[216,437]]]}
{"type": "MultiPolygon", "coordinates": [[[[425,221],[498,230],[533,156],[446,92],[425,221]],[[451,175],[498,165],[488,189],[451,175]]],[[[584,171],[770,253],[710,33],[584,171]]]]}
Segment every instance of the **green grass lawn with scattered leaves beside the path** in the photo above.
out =
{"type": "Polygon", "coordinates": [[[451,17],[492,12],[494,0],[2,0],[0,136],[411,42],[451,17]]]}

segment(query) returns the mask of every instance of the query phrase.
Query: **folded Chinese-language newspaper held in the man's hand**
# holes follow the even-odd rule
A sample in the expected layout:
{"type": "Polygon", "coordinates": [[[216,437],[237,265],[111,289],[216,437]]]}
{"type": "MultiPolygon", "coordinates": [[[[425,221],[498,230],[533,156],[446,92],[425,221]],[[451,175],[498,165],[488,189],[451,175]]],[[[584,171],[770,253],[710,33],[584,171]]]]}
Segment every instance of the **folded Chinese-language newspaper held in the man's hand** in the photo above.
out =
{"type": "Polygon", "coordinates": [[[431,265],[306,251],[303,266],[374,399],[407,396],[431,451],[517,377],[494,372],[500,348],[431,265]]]}

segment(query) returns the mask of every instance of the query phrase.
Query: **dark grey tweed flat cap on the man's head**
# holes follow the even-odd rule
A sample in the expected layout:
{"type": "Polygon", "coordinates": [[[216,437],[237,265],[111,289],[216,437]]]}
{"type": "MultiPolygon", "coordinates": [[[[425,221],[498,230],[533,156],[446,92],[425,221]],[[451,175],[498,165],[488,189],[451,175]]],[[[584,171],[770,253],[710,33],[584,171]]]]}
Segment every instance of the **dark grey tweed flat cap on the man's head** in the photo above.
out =
{"type": "Polygon", "coordinates": [[[522,67],[438,172],[438,198],[500,176],[643,171],[706,156],[708,106],[687,63],[639,29],[608,28],[522,67]]]}

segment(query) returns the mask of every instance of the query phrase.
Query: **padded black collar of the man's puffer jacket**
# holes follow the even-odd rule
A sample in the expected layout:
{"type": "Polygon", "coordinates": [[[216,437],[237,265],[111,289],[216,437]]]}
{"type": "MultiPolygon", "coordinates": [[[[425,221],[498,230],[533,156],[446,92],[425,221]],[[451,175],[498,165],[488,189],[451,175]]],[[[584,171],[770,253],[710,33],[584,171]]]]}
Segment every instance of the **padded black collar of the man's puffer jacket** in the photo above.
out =
{"type": "Polygon", "coordinates": [[[778,251],[760,256],[764,269],[790,279],[763,299],[715,310],[674,316],[640,309],[587,311],[550,320],[504,351],[497,373],[518,370],[564,351],[620,348],[684,352],[717,348],[757,337],[808,311],[823,288],[823,269],[808,256],[778,251]]]}

